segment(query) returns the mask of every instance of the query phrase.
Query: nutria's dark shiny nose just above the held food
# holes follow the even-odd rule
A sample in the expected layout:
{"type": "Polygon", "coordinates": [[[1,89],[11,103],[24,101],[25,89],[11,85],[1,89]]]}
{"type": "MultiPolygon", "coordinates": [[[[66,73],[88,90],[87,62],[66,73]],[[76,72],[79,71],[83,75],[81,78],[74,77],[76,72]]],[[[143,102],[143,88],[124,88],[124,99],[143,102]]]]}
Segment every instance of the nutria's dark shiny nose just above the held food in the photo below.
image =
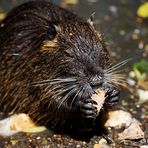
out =
{"type": "Polygon", "coordinates": [[[103,83],[103,80],[101,76],[96,75],[90,78],[90,85],[92,87],[101,86],[102,83],[103,83]]]}

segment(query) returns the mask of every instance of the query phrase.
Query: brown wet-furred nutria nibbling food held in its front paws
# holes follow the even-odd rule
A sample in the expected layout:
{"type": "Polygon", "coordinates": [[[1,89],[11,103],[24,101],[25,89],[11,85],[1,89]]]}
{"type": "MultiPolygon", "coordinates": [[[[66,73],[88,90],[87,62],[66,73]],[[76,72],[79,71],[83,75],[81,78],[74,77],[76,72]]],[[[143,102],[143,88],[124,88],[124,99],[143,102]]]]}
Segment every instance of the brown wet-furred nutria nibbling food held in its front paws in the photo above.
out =
{"type": "Polygon", "coordinates": [[[119,99],[110,66],[91,17],[27,2],[0,24],[0,110],[27,113],[55,132],[92,132],[119,99]],[[106,90],[99,115],[91,99],[96,88],[106,90]]]}

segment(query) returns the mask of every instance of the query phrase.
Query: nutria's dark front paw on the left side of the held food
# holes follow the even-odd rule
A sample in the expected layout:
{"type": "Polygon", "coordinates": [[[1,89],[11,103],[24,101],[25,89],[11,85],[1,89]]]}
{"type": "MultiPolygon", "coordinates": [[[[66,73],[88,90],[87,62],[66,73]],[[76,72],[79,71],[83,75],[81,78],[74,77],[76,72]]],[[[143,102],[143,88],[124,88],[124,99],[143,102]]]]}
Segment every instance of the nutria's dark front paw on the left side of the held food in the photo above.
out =
{"type": "Polygon", "coordinates": [[[94,104],[96,104],[95,101],[92,99],[85,99],[80,100],[78,104],[82,117],[88,119],[94,119],[97,117],[97,108],[94,106],[94,104]]]}

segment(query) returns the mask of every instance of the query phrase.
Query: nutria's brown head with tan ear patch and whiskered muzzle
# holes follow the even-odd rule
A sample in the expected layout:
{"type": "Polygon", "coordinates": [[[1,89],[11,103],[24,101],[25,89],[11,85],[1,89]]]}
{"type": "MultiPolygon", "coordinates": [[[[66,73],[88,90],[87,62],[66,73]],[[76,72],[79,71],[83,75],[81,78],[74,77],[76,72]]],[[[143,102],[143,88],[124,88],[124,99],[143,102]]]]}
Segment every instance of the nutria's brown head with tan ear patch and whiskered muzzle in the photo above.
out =
{"type": "MultiPolygon", "coordinates": [[[[58,61],[55,79],[46,81],[52,85],[53,94],[59,94],[60,89],[62,96],[66,94],[65,99],[71,96],[85,98],[92,95],[94,88],[107,88],[109,53],[94,27],[88,22],[63,22],[55,26],[55,30],[55,37],[42,46],[43,51],[58,57],[55,59],[58,61]]],[[[51,95],[51,90],[48,94],[51,95]]]]}

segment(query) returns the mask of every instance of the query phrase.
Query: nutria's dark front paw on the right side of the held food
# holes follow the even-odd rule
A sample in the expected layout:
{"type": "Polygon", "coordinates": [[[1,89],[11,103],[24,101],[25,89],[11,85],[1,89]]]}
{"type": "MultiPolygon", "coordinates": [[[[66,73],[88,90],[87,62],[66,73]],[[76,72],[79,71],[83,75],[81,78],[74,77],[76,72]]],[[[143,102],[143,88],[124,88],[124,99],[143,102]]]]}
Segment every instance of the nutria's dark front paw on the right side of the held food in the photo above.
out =
{"type": "Polygon", "coordinates": [[[119,101],[119,94],[119,90],[109,89],[105,94],[105,104],[112,106],[117,103],[119,101]]]}

